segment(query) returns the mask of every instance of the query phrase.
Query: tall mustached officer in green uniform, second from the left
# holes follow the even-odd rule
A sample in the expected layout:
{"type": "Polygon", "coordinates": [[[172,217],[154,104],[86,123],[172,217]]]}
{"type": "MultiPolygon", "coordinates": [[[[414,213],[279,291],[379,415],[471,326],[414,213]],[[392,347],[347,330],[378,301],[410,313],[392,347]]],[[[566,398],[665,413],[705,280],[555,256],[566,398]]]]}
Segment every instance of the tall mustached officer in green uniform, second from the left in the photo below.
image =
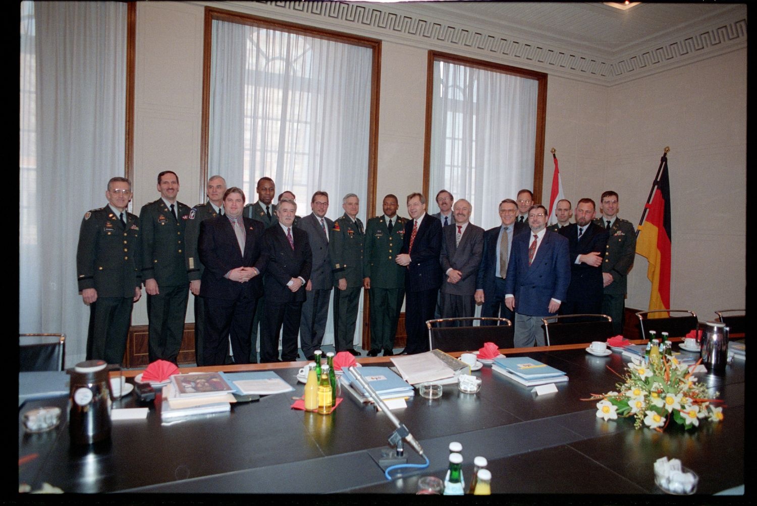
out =
{"type": "Polygon", "coordinates": [[[164,170],[157,175],[160,198],[142,206],[142,279],[147,292],[150,362],[176,363],[184,334],[189,296],[186,268],[186,223],[189,208],[176,200],[179,176],[164,170]]]}

